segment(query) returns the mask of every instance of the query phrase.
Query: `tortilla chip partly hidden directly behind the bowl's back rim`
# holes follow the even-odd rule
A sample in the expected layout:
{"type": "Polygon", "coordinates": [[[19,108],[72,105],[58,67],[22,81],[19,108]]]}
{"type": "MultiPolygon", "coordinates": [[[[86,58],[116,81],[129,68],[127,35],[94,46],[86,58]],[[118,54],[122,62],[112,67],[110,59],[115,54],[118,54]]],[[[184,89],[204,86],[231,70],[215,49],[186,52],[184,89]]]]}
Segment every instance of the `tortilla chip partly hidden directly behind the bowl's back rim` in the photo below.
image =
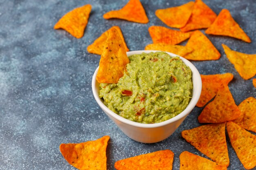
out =
{"type": "Polygon", "coordinates": [[[164,44],[164,43],[148,44],[145,47],[145,50],[166,51],[166,52],[174,53],[174,54],[180,55],[180,56],[184,56],[193,51],[192,48],[189,48],[186,46],[171,45],[171,44],[164,44]]]}

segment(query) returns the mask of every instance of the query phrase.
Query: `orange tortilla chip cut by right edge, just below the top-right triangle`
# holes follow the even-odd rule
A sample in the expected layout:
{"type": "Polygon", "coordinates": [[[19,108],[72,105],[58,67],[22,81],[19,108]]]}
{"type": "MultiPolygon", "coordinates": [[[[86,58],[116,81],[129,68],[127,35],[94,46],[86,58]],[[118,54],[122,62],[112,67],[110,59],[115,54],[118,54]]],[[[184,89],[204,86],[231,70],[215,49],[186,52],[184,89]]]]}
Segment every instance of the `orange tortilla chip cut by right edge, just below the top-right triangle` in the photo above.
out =
{"type": "Polygon", "coordinates": [[[243,79],[250,79],[256,75],[256,54],[245,54],[229,49],[222,44],[229,61],[234,64],[236,71],[243,79]]]}

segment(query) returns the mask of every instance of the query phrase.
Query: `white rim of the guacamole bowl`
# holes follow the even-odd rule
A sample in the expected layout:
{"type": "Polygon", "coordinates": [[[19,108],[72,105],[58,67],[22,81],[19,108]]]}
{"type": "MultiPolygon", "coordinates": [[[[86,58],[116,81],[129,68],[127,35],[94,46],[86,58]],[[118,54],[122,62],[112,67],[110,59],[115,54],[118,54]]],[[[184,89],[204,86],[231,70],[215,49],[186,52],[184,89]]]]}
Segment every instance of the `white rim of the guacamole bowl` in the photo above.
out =
{"type": "MultiPolygon", "coordinates": [[[[130,56],[130,55],[134,55],[134,54],[150,53],[150,52],[159,52],[159,51],[139,50],[139,51],[128,51],[126,53],[127,53],[127,56],[130,56]]],[[[162,51],[162,52],[166,52],[166,51],[162,51]]],[[[117,115],[115,112],[110,110],[102,102],[102,99],[99,97],[99,92],[97,92],[97,90],[96,90],[96,85],[99,84],[96,80],[96,75],[97,75],[98,70],[99,70],[99,66],[98,66],[96,68],[95,72],[94,72],[93,77],[92,77],[92,93],[94,95],[94,98],[95,98],[96,102],[99,104],[99,106],[102,108],[102,110],[105,111],[105,112],[108,112],[108,114],[110,114],[115,119],[123,122],[124,124],[128,124],[128,125],[135,126],[135,127],[141,127],[141,128],[156,128],[156,127],[165,126],[167,124],[171,124],[171,123],[173,123],[175,121],[178,121],[178,120],[182,119],[183,117],[186,117],[187,115],[189,115],[191,110],[193,110],[193,108],[197,104],[197,102],[200,98],[200,95],[201,95],[202,79],[201,79],[200,73],[198,72],[197,68],[189,60],[186,60],[185,58],[183,58],[179,55],[173,54],[173,53],[169,53],[169,52],[166,52],[166,53],[171,55],[171,57],[176,57],[176,56],[180,57],[182,62],[184,62],[184,64],[189,66],[189,68],[191,69],[191,72],[192,72],[192,82],[193,82],[192,98],[191,98],[191,101],[189,102],[188,106],[179,115],[176,115],[175,117],[173,117],[171,119],[168,119],[166,121],[162,121],[162,122],[159,122],[159,123],[155,123],[155,124],[142,124],[142,123],[139,123],[139,122],[128,120],[124,117],[121,117],[121,116],[117,115]]]]}

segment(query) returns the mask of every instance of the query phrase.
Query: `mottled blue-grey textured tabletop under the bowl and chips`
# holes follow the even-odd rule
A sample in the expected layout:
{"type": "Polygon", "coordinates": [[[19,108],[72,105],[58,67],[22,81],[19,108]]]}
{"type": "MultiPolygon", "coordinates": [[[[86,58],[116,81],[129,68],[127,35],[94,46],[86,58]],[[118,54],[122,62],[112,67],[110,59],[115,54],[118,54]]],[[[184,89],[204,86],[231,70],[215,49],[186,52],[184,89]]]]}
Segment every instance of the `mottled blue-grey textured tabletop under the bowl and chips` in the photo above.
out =
{"type": "MultiPolygon", "coordinates": [[[[130,51],[142,50],[152,43],[148,27],[165,26],[155,16],[155,10],[188,1],[141,0],[150,22],[138,24],[102,18],[105,12],[123,7],[128,0],[0,0],[0,169],[76,169],[62,157],[59,145],[104,135],[111,137],[108,170],[115,169],[114,163],[119,159],[162,149],[175,153],[173,170],[179,169],[179,155],[184,150],[206,157],[181,137],[182,130],[200,126],[197,117],[202,108],[195,108],[176,132],[162,142],[141,144],[126,137],[94,100],[91,79],[100,57],[86,51],[89,44],[113,25],[121,27],[130,51]],[[83,38],[76,39],[63,30],[53,29],[62,15],[88,3],[92,4],[92,12],[83,38]]],[[[216,13],[229,9],[252,43],[207,35],[222,56],[217,61],[193,64],[201,74],[233,73],[229,88],[236,104],[247,97],[256,97],[252,79],[245,81],[240,77],[221,46],[225,43],[233,50],[256,53],[255,0],[204,2],[216,13]]],[[[227,144],[228,170],[243,170],[228,137],[227,144]]]]}

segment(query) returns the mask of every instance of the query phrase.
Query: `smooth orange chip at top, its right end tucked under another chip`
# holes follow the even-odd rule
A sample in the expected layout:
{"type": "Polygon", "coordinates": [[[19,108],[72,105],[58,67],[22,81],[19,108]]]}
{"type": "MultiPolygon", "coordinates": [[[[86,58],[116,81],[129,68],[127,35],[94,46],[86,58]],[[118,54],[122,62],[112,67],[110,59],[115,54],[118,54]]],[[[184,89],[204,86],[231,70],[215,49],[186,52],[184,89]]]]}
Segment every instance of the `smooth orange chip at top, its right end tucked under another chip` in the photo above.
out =
{"type": "Polygon", "coordinates": [[[181,28],[185,26],[186,22],[189,20],[193,7],[194,2],[190,1],[178,7],[157,9],[155,15],[157,15],[164,24],[174,28],[181,28]]]}

